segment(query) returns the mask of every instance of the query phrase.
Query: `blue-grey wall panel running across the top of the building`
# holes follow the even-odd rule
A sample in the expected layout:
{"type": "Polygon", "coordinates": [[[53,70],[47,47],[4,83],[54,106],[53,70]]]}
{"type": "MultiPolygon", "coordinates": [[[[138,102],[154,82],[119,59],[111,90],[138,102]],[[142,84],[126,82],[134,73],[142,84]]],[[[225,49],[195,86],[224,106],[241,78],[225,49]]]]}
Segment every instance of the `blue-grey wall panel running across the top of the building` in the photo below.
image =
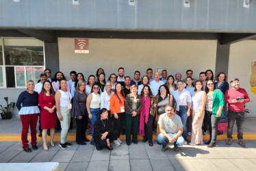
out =
{"type": "Polygon", "coordinates": [[[243,0],[0,1],[0,27],[157,31],[256,32],[256,1],[243,0]]]}

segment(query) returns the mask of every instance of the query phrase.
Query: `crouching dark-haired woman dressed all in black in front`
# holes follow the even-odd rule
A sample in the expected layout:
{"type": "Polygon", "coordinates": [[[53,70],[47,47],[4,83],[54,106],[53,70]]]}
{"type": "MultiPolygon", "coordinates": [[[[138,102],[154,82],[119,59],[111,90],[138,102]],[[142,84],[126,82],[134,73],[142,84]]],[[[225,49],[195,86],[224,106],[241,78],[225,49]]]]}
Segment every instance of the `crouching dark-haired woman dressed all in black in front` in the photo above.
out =
{"type": "Polygon", "coordinates": [[[108,118],[108,112],[106,108],[102,108],[99,111],[101,117],[97,119],[94,124],[94,142],[97,150],[107,148],[113,150],[111,143],[118,136],[118,131],[114,130],[112,120],[108,118]]]}

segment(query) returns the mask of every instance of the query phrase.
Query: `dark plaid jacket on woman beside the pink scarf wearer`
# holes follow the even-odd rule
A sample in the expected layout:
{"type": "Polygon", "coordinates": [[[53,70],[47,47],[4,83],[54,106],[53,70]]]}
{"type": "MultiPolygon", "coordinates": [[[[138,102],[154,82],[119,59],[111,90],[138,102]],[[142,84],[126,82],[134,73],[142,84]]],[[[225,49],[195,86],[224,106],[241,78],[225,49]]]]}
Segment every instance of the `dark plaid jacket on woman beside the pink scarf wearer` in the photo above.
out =
{"type": "Polygon", "coordinates": [[[127,94],[126,98],[125,98],[125,113],[127,114],[131,114],[133,111],[136,111],[137,114],[140,114],[140,109],[142,107],[142,98],[140,95],[137,95],[137,107],[135,110],[132,109],[132,105],[133,105],[133,94],[127,94]]]}

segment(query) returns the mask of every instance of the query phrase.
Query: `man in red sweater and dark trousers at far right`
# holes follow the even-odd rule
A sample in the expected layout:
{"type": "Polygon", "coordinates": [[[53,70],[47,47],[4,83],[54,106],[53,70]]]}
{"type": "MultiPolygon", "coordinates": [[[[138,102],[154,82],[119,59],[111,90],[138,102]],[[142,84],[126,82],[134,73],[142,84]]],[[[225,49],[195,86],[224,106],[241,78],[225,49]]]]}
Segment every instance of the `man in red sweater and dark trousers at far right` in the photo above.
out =
{"type": "Polygon", "coordinates": [[[225,93],[225,103],[229,104],[229,109],[227,111],[228,127],[226,144],[230,146],[233,142],[233,126],[236,121],[236,125],[238,127],[238,144],[245,147],[245,143],[243,141],[243,124],[245,119],[244,103],[250,102],[250,98],[246,90],[244,90],[244,88],[240,88],[239,79],[231,79],[230,85],[232,88],[227,90],[225,93]]]}

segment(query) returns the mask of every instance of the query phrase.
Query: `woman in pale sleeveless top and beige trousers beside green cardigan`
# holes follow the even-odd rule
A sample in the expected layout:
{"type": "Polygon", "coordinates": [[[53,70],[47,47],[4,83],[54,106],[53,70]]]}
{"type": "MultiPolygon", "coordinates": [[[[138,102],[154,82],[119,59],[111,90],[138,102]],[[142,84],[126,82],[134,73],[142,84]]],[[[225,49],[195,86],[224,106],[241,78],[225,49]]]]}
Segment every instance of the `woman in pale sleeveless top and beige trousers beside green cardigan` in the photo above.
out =
{"type": "Polygon", "coordinates": [[[194,95],[192,96],[193,114],[192,114],[192,137],[191,145],[203,144],[202,124],[205,116],[206,94],[203,89],[202,81],[195,82],[194,95]]]}

